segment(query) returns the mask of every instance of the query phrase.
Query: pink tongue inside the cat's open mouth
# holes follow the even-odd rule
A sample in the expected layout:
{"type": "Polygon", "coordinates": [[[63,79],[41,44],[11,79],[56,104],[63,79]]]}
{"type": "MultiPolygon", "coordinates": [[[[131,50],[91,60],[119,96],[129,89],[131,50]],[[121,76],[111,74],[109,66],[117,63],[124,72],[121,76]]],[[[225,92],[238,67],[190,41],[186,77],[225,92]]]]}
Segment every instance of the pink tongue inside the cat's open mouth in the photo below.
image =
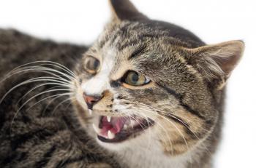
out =
{"type": "Polygon", "coordinates": [[[110,130],[110,132],[114,134],[117,134],[124,127],[125,121],[126,119],[124,119],[123,117],[111,117],[111,121],[108,122],[107,117],[103,116],[102,131],[100,132],[100,134],[108,136],[108,130],[110,130]]]}

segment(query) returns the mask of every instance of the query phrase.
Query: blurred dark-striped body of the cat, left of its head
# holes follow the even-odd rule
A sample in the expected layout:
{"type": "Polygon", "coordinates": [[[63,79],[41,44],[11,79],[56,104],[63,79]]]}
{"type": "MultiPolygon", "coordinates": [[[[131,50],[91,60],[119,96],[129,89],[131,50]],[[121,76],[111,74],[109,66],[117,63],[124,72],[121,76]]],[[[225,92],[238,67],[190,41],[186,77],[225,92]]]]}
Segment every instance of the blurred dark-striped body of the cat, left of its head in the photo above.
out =
{"type": "MultiPolygon", "coordinates": [[[[37,60],[55,61],[72,69],[86,49],[72,44],[42,41],[18,31],[1,29],[0,80],[12,68],[37,60]]],[[[1,82],[0,97],[16,84],[38,76],[45,74],[19,74],[1,82]]],[[[53,113],[56,105],[67,99],[67,96],[59,97],[51,103],[53,97],[48,98],[34,105],[60,92],[48,92],[34,98],[16,115],[20,105],[30,97],[54,87],[45,85],[35,89],[16,105],[20,97],[39,84],[42,82],[18,87],[0,105],[0,167],[119,167],[111,154],[103,152],[81,129],[69,102],[59,105],[53,113]],[[34,107],[30,108],[32,105],[34,107]]]]}

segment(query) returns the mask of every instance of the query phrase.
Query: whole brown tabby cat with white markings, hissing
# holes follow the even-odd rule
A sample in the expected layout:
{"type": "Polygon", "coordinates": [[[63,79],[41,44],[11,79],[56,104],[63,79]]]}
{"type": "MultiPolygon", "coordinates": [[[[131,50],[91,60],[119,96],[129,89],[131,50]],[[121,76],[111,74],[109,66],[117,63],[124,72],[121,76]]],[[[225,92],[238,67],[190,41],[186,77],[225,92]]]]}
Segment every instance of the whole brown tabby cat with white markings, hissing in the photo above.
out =
{"type": "Polygon", "coordinates": [[[0,29],[1,167],[212,167],[244,42],[110,7],[88,47],[0,29]]]}

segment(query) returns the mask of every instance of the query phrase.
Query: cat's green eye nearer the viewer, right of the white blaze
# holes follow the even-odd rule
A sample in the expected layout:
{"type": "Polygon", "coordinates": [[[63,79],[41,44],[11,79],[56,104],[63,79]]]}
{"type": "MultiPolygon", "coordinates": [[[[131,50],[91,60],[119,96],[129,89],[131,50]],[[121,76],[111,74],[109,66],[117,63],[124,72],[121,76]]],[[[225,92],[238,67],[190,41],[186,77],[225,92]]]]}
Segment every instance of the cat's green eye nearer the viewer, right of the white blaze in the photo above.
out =
{"type": "Polygon", "coordinates": [[[142,86],[144,84],[148,84],[150,80],[143,76],[141,73],[137,73],[135,71],[129,71],[124,79],[124,83],[132,85],[132,86],[142,86]]]}

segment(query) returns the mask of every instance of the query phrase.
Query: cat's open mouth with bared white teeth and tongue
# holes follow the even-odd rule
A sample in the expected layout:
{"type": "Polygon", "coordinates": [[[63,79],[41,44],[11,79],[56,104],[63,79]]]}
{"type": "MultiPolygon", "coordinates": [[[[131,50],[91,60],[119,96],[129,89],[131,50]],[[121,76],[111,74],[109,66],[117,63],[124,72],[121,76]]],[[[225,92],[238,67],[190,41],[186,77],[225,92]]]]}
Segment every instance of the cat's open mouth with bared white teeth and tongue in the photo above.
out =
{"type": "Polygon", "coordinates": [[[102,142],[118,143],[129,137],[137,136],[153,124],[153,120],[139,116],[100,116],[99,126],[93,125],[93,127],[102,142]]]}

